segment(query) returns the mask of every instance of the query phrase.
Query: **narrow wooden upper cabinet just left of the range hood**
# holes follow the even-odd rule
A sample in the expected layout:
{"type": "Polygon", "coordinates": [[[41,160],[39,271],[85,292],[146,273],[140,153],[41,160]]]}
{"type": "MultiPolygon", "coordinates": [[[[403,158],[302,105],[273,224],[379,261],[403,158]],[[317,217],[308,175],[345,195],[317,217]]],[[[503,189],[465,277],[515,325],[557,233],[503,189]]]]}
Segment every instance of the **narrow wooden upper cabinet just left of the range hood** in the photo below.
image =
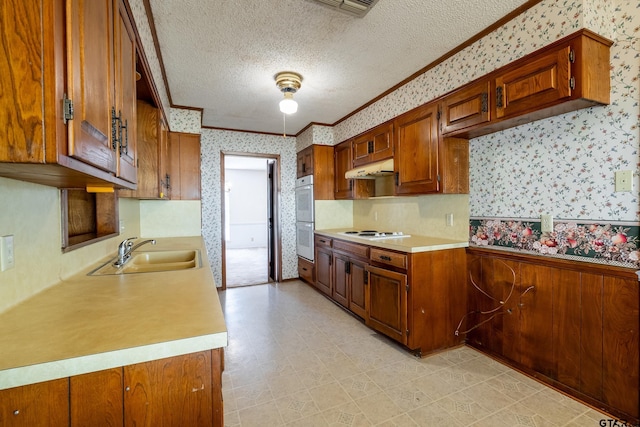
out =
{"type": "Polygon", "coordinates": [[[334,198],[336,200],[366,199],[374,192],[373,180],[344,177],[349,169],[353,169],[352,142],[353,140],[348,140],[334,147],[334,198]]]}

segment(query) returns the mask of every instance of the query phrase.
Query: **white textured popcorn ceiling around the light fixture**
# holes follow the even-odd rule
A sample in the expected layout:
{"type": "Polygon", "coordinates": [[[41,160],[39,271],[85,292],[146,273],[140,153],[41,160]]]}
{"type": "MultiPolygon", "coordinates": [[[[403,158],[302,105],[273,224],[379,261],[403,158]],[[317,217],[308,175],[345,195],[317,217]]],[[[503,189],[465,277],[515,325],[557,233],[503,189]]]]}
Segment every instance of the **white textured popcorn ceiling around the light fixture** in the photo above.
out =
{"type": "Polygon", "coordinates": [[[281,133],[274,75],[303,76],[295,134],[333,124],[526,0],[379,0],[356,18],[311,0],[150,0],[174,105],[203,125],[281,133]]]}

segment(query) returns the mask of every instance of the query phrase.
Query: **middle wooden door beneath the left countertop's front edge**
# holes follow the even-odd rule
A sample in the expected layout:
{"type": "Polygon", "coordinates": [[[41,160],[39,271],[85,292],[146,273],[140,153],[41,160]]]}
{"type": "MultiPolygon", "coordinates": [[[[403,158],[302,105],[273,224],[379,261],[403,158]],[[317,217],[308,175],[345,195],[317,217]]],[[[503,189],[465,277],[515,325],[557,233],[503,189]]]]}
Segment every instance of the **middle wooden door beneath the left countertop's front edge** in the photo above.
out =
{"type": "Polygon", "coordinates": [[[71,426],[122,426],[122,368],[69,378],[71,426]]]}

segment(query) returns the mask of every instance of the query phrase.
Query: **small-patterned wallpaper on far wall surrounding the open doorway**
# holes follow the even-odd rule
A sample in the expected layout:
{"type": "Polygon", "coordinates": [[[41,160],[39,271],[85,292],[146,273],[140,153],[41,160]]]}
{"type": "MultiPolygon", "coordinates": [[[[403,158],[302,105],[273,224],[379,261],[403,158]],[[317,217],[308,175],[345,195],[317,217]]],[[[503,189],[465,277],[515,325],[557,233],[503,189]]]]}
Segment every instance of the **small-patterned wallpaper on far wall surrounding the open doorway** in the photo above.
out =
{"type": "Polygon", "coordinates": [[[282,277],[298,277],[296,255],[295,181],[296,140],[277,135],[202,129],[200,136],[202,172],[202,235],[216,283],[222,283],[222,212],[220,153],[256,153],[280,156],[280,227],[282,277]]]}

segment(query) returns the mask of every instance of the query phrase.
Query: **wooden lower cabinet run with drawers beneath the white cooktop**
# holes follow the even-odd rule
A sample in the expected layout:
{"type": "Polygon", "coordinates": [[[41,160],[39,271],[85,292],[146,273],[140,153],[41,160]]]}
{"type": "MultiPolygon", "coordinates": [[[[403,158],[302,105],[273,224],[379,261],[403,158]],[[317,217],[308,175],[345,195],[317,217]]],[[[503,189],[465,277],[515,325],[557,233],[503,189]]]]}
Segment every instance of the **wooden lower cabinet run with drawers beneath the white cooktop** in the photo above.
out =
{"type": "Polygon", "coordinates": [[[455,329],[466,312],[464,248],[404,253],[315,242],[316,288],[367,326],[419,355],[463,342],[455,329]]]}

